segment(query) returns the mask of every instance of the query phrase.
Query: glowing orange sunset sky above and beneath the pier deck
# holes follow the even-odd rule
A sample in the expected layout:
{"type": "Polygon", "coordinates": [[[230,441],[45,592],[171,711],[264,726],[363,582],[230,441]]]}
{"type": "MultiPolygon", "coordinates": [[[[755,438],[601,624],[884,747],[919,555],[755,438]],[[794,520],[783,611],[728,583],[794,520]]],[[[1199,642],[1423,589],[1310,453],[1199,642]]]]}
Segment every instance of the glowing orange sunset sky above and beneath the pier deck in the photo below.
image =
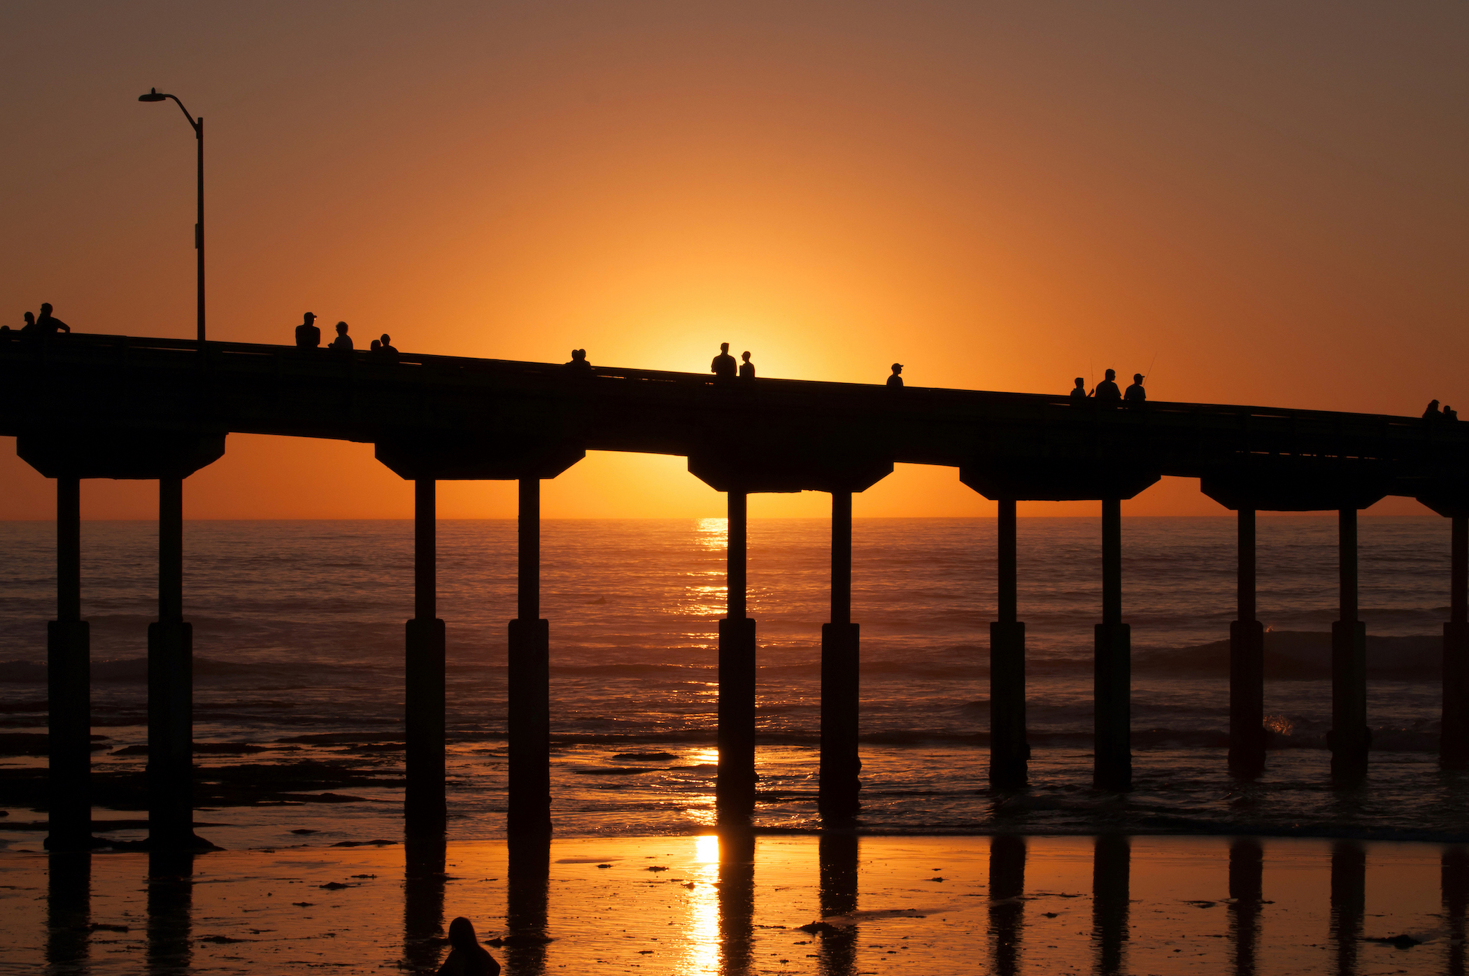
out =
{"type": "MultiPolygon", "coordinates": [[[[0,321],[210,338],[306,310],[407,351],[1065,390],[1469,407],[1469,7],[1453,3],[10,4],[0,321]],[[1156,357],[1156,361],[1155,361],[1156,357]]],[[[0,451],[0,518],[50,486],[0,451]]],[[[1166,481],[1130,514],[1222,512],[1166,481]]],[[[197,518],[404,517],[370,446],[232,436],[197,518]]],[[[454,484],[445,517],[514,511],[454,484]]],[[[87,483],[84,512],[154,512],[87,483]]],[[[1422,511],[1391,502],[1381,511],[1422,511]]],[[[551,517],[717,515],[593,455],[551,517]]],[[[820,515],[764,496],[754,515],[820,515]]],[[[1036,503],[1030,514],[1091,514],[1036,503]]],[[[989,514],[900,468],[858,515],[989,514]]]]}

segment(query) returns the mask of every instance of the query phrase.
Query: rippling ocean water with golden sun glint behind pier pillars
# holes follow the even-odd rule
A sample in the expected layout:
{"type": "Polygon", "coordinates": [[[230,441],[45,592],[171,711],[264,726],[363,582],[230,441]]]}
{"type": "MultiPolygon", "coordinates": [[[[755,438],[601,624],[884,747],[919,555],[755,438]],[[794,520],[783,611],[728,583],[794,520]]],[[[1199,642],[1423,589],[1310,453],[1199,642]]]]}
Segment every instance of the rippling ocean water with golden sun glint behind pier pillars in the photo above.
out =
{"type": "MultiPolygon", "coordinates": [[[[1100,522],[1019,520],[1034,754],[1031,788],[1000,794],[986,782],[995,520],[858,520],[861,828],[1469,837],[1469,775],[1441,769],[1435,751],[1447,522],[1360,520],[1374,753],[1366,782],[1340,790],[1331,787],[1324,749],[1335,518],[1259,524],[1266,724],[1275,735],[1265,776],[1247,784],[1225,769],[1234,520],[1122,521],[1137,788],[1119,798],[1090,788],[1100,522]]],[[[411,522],[190,521],[184,539],[198,819],[213,825],[200,834],[226,847],[285,844],[292,829],[313,831],[313,841],[398,837],[411,522]]],[[[0,798],[7,813],[0,823],[19,829],[44,819],[34,797],[46,763],[40,735],[54,536],[48,522],[4,522],[0,540],[7,555],[0,564],[0,773],[15,787],[0,798]]],[[[768,831],[818,825],[829,540],[821,520],[749,525],[759,647],[755,823],[768,831]]],[[[513,521],[439,522],[452,840],[504,832],[514,571],[513,521]]],[[[82,612],[93,633],[94,763],[109,807],[97,816],[138,817],[154,524],[82,524],[82,612]]],[[[723,520],[544,522],[558,837],[696,834],[714,822],[723,612],[723,520]]],[[[40,840],[34,831],[3,837],[7,844],[40,840]]]]}

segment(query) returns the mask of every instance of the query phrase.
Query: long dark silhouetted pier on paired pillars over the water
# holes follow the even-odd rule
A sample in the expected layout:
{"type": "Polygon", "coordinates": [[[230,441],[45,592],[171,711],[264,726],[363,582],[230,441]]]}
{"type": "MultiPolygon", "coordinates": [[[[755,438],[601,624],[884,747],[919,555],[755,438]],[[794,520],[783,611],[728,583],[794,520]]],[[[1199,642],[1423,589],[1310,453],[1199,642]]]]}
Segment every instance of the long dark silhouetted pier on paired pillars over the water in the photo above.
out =
{"type": "MultiPolygon", "coordinates": [[[[1416,498],[1447,522],[1441,756],[1469,760],[1469,426],[1247,405],[1109,407],[1034,393],[721,382],[708,374],[577,371],[413,354],[383,360],[369,352],[106,335],[0,338],[0,433],[18,437],[21,458],[54,478],[57,493],[57,611],[48,624],[51,850],[91,842],[90,638],[79,574],[85,478],[159,483],[159,612],[147,637],[150,845],[201,844],[192,832],[194,640],[185,621],[182,499],[188,477],[223,456],[231,433],[372,443],[382,464],[414,483],[416,599],[404,631],[404,822],[410,838],[427,844],[445,829],[444,649],[452,631],[436,606],[436,484],[519,484],[517,615],[507,624],[508,826],[520,837],[546,835],[554,800],[554,641],[551,622],[541,618],[541,481],[588,451],[685,456],[692,474],[727,496],[727,613],[718,625],[723,823],[748,820],[757,801],[758,627],[746,602],[746,511],[749,495],[765,492],[831,495],[818,806],[831,825],[849,823],[861,810],[852,496],[895,464],[958,468],[964,484],[999,503],[997,619],[990,624],[993,787],[1021,788],[1030,775],[1017,502],[1094,500],[1102,515],[1102,608],[1094,631],[1093,781],[1106,791],[1131,788],[1121,502],[1163,476],[1200,478],[1205,495],[1238,517],[1228,753],[1235,776],[1253,778],[1265,768],[1255,547],[1256,514],[1269,511],[1338,514],[1331,775],[1343,782],[1365,775],[1372,743],[1366,625],[1357,606],[1357,512],[1390,495],[1416,498]]],[[[1125,859],[1125,847],[1099,844],[1099,857],[1125,859]]],[[[1099,916],[1097,926],[1111,931],[1115,919],[1099,916]]]]}

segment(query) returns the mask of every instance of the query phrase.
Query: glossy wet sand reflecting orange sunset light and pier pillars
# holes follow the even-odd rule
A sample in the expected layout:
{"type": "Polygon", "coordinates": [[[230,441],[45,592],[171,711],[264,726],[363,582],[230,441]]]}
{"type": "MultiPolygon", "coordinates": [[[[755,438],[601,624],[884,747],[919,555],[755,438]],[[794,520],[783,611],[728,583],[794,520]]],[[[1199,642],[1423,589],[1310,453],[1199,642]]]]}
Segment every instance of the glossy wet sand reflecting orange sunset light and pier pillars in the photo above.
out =
{"type": "Polygon", "coordinates": [[[517,976],[1465,972],[1469,856],[1438,844],[704,835],[436,856],[4,851],[0,972],[433,972],[458,914],[507,939],[491,951],[517,976]]]}

